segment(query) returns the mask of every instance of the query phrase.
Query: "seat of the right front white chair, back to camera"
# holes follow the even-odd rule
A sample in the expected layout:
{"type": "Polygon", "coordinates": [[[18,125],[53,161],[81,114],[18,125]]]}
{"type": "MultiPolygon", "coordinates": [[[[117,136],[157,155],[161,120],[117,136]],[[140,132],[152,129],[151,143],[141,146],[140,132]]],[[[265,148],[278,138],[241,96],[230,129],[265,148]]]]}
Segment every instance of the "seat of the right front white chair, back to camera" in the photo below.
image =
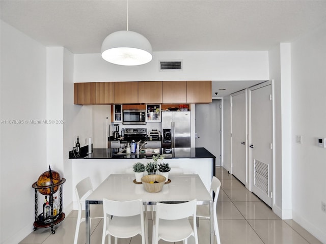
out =
{"type": "Polygon", "coordinates": [[[180,241],[188,238],[193,233],[193,228],[188,219],[181,220],[159,220],[158,235],[165,241],[180,241]],[[180,226],[184,226],[180,228],[180,226]],[[177,231],[176,231],[177,230],[177,231]]]}

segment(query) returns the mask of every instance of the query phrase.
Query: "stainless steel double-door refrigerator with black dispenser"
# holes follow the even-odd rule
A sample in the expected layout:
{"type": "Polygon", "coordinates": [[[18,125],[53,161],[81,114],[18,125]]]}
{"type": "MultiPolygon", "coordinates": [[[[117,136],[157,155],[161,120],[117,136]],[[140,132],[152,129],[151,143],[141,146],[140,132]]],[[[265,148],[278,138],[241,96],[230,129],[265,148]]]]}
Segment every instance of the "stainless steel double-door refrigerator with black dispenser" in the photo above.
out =
{"type": "Polygon", "coordinates": [[[162,111],[162,147],[190,147],[190,111],[162,111]]]}

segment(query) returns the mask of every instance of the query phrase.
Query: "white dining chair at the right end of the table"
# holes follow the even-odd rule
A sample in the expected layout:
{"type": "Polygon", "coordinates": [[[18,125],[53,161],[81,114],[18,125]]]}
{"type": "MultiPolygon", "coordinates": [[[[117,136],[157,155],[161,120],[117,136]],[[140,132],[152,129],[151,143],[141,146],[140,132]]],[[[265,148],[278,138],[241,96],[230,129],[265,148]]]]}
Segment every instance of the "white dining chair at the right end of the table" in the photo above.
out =
{"type": "MultiPolygon", "coordinates": [[[[218,225],[218,216],[217,216],[217,212],[216,212],[216,205],[218,203],[218,197],[219,197],[219,193],[220,193],[220,188],[221,188],[221,181],[216,178],[215,176],[213,176],[212,178],[212,182],[210,185],[210,190],[209,193],[210,195],[212,195],[213,193],[215,194],[214,196],[214,203],[213,203],[213,221],[214,221],[214,233],[215,233],[215,237],[216,237],[216,242],[218,244],[221,244],[221,240],[220,240],[220,232],[219,232],[219,225],[218,225]]],[[[203,218],[203,219],[210,219],[209,216],[209,206],[208,205],[198,205],[197,206],[197,223],[199,218],[203,218]]],[[[198,226],[198,224],[197,224],[198,226]]]]}

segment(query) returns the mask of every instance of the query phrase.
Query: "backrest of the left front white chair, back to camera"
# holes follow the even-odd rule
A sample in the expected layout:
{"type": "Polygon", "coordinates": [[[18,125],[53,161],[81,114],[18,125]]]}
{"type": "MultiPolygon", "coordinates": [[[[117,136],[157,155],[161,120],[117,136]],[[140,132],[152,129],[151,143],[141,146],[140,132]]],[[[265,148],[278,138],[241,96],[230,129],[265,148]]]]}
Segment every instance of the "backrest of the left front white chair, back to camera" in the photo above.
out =
{"type": "Polygon", "coordinates": [[[143,216],[143,201],[142,199],[132,201],[112,201],[103,199],[104,216],[112,215],[118,217],[127,217],[141,215],[143,216]]]}

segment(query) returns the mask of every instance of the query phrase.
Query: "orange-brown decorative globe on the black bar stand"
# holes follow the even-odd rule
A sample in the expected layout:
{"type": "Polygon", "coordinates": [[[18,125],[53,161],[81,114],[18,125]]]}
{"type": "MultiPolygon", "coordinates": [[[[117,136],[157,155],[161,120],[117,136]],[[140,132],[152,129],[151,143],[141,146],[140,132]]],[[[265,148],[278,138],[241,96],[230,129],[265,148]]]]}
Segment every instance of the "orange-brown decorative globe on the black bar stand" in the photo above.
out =
{"type": "MultiPolygon", "coordinates": [[[[44,189],[38,189],[39,193],[42,195],[50,195],[51,189],[51,174],[52,174],[52,184],[55,185],[61,181],[60,174],[55,170],[48,170],[45,171],[43,174],[40,175],[38,180],[36,181],[36,185],[38,187],[48,187],[44,189]]],[[[59,186],[53,187],[53,193],[56,193],[59,189],[59,186]]]]}

